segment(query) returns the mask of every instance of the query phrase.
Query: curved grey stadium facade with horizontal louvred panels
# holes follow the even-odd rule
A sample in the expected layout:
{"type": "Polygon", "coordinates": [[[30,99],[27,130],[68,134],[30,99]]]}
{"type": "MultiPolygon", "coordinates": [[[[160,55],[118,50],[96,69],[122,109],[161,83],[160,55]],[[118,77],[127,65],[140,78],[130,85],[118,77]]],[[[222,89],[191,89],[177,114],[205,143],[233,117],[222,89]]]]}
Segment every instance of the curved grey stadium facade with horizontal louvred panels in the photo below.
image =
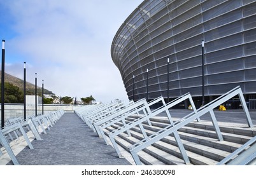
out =
{"type": "MultiPolygon", "coordinates": [[[[129,99],[163,96],[171,100],[190,92],[199,106],[204,58],[206,102],[239,85],[252,109],[256,1],[145,0],[118,29],[111,57],[129,99]]],[[[229,106],[239,107],[235,101],[229,106]]]]}

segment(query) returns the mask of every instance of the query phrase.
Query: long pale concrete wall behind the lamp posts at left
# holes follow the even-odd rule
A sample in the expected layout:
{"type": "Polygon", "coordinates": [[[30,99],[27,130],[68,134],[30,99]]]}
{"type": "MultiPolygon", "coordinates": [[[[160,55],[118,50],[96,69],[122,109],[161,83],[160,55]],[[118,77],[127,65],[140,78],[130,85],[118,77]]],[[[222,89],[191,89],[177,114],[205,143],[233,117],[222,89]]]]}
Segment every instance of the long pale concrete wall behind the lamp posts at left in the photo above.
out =
{"type": "MultiPolygon", "coordinates": [[[[57,111],[57,110],[64,110],[65,112],[73,112],[74,109],[81,107],[80,105],[65,105],[65,104],[44,104],[43,106],[43,113],[50,113],[51,111],[57,111]]],[[[26,116],[27,118],[29,116],[35,115],[35,109],[36,107],[32,104],[27,104],[26,106],[26,116]]],[[[37,107],[37,113],[38,115],[42,113],[42,105],[38,104],[37,107]]],[[[1,108],[0,108],[1,111],[1,108]]],[[[9,118],[18,118],[24,116],[24,105],[23,104],[4,104],[4,119],[8,120],[9,118]]],[[[0,114],[1,118],[1,114],[0,114]]]]}

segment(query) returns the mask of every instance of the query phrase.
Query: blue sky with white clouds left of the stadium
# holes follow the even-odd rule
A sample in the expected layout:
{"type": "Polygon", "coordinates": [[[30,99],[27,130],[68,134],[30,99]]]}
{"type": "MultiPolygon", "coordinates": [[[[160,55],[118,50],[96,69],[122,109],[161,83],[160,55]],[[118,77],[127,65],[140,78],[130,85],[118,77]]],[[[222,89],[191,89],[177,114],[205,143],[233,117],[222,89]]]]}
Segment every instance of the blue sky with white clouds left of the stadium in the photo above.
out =
{"type": "MultiPolygon", "coordinates": [[[[61,97],[128,101],[111,59],[119,27],[143,0],[0,0],[5,72],[61,97]]],[[[2,45],[2,44],[1,44],[2,45]]]]}

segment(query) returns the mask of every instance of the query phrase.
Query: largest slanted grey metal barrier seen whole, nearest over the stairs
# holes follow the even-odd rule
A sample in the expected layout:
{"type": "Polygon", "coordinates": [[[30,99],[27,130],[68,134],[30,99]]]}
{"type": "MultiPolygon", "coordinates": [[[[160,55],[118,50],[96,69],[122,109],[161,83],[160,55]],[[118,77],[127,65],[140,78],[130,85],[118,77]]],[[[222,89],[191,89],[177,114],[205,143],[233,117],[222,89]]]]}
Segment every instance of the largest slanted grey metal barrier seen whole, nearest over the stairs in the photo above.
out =
{"type": "MultiPolygon", "coordinates": [[[[180,120],[176,121],[175,123],[171,123],[171,125],[168,125],[167,127],[163,128],[162,130],[159,130],[159,132],[155,132],[155,134],[152,134],[148,137],[146,137],[145,139],[140,140],[139,142],[137,142],[136,144],[132,145],[129,149],[130,152],[132,154],[132,158],[134,159],[136,165],[142,165],[141,160],[139,159],[138,156],[138,152],[145,149],[146,147],[152,145],[153,143],[157,142],[160,139],[163,139],[164,137],[166,137],[169,134],[174,134],[177,133],[177,130],[181,127],[184,127],[185,125],[187,125],[188,123],[196,120],[197,118],[199,118],[200,116],[203,116],[206,113],[210,113],[211,115],[211,121],[213,123],[213,127],[215,128],[215,132],[217,134],[218,140],[222,141],[224,140],[222,137],[222,134],[220,132],[220,128],[218,127],[218,123],[217,123],[217,119],[215,117],[215,114],[213,112],[213,109],[215,107],[220,106],[220,104],[223,104],[225,101],[231,99],[232,97],[239,95],[239,99],[241,101],[241,104],[243,106],[243,111],[246,114],[246,118],[247,118],[247,123],[249,127],[253,127],[253,123],[252,123],[252,119],[250,118],[250,114],[248,111],[248,108],[246,106],[246,102],[245,99],[243,97],[243,93],[241,91],[240,86],[237,86],[236,88],[230,90],[229,92],[225,93],[224,95],[218,97],[217,99],[211,101],[209,104],[206,104],[205,106],[197,109],[196,111],[188,114],[187,116],[181,118],[180,120]]],[[[168,108],[168,104],[167,106],[165,106],[166,109],[168,108]]],[[[162,108],[163,110],[165,110],[165,108],[162,108]]],[[[156,114],[159,114],[158,112],[154,114],[154,116],[156,114]]],[[[178,133],[176,134],[178,135],[178,133]]],[[[177,142],[177,140],[176,140],[177,142]]],[[[180,142],[177,142],[177,144],[181,144],[180,142]]],[[[181,146],[183,147],[183,146],[181,146]]],[[[185,153],[185,149],[183,149],[183,151],[181,151],[181,154],[183,156],[183,160],[185,161],[185,163],[188,163],[189,160],[187,158],[187,154],[185,153]]]]}

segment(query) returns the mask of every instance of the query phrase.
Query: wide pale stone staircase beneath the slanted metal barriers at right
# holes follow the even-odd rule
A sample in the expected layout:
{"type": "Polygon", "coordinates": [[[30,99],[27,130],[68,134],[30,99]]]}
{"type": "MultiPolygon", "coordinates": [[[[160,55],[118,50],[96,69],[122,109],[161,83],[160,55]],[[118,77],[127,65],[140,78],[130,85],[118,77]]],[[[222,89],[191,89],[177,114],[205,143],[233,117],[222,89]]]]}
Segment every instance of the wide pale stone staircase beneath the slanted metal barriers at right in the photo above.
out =
{"type": "MultiPolygon", "coordinates": [[[[125,121],[129,123],[138,117],[134,114],[126,118],[125,121]]],[[[148,122],[143,123],[147,135],[151,135],[169,125],[169,120],[164,116],[152,117],[150,121],[152,126],[149,126],[148,122]]],[[[104,134],[108,135],[122,125],[122,122],[115,123],[111,127],[105,128],[104,134]]],[[[221,122],[218,122],[218,125],[224,141],[217,139],[217,134],[210,121],[194,121],[178,130],[190,165],[216,165],[256,135],[256,127],[248,128],[248,125],[221,122]]],[[[124,155],[129,155],[129,147],[144,138],[139,127],[133,127],[130,131],[131,137],[125,133],[115,137],[120,149],[123,150],[123,153],[125,152],[124,155]]],[[[164,137],[152,146],[146,147],[138,155],[145,165],[185,165],[173,135],[164,137]]]]}

